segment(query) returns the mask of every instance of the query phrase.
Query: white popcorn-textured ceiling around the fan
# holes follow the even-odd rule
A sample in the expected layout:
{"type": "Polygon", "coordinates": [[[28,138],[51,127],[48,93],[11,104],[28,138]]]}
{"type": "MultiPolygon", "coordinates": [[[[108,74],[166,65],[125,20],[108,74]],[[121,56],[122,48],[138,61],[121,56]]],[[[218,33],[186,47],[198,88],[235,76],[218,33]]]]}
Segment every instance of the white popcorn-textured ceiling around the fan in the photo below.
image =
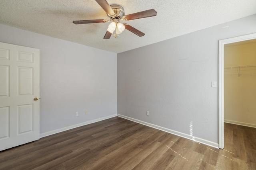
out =
{"type": "Polygon", "coordinates": [[[121,21],[144,32],[125,30],[103,39],[109,22],[75,25],[73,20],[106,19],[95,0],[0,0],[0,23],[114,53],[256,14],[256,0],[107,0],[125,14],[154,8],[157,16],[121,21]]]}

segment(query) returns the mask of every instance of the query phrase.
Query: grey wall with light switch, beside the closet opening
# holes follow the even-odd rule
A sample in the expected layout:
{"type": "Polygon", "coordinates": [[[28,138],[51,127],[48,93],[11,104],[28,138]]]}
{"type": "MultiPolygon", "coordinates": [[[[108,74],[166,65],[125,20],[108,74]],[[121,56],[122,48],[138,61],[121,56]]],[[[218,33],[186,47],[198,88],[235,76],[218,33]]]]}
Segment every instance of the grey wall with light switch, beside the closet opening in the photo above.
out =
{"type": "Polygon", "coordinates": [[[218,40],[255,32],[253,15],[119,53],[118,114],[218,147],[218,40]]]}

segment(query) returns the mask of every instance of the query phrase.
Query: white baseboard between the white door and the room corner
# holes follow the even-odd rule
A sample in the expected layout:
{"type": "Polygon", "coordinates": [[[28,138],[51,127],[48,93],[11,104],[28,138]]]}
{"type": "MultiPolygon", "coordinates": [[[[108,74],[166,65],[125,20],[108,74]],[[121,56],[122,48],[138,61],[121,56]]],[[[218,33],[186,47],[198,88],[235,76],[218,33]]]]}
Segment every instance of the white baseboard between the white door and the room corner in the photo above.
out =
{"type": "Polygon", "coordinates": [[[94,119],[94,120],[91,120],[91,121],[86,121],[86,122],[83,122],[83,123],[79,123],[79,124],[76,124],[76,125],[72,125],[72,126],[68,126],[68,127],[63,127],[63,128],[60,128],[60,129],[56,129],[54,131],[49,131],[49,132],[46,132],[46,133],[41,133],[40,134],[40,138],[46,137],[46,136],[50,136],[50,135],[53,135],[53,134],[56,134],[56,133],[60,133],[60,132],[63,132],[63,131],[67,131],[67,130],[70,130],[70,129],[74,129],[76,127],[88,125],[88,124],[91,124],[91,123],[96,123],[98,121],[106,120],[106,119],[109,119],[109,118],[112,118],[112,117],[116,117],[116,116],[117,115],[114,114],[114,115],[110,115],[110,116],[106,116],[106,117],[101,117],[99,119],[94,119]]]}

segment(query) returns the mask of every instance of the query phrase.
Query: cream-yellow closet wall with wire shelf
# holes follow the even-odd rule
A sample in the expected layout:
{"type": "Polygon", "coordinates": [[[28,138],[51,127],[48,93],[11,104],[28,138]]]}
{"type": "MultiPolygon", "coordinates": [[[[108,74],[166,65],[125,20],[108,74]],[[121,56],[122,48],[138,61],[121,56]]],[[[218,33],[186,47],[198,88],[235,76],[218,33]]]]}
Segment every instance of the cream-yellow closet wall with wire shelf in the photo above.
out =
{"type": "Polygon", "coordinates": [[[224,48],[224,121],[256,127],[256,43],[224,48]],[[255,67],[230,68],[230,66],[255,67]]]}

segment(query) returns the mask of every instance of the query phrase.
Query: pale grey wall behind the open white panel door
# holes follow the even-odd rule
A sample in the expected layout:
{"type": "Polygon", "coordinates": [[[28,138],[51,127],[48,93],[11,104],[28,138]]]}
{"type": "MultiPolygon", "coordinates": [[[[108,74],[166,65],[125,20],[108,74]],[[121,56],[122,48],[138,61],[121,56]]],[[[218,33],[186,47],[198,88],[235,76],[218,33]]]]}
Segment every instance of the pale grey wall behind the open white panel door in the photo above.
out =
{"type": "Polygon", "coordinates": [[[40,49],[40,133],[116,115],[115,53],[6,25],[0,42],[40,49]]]}

